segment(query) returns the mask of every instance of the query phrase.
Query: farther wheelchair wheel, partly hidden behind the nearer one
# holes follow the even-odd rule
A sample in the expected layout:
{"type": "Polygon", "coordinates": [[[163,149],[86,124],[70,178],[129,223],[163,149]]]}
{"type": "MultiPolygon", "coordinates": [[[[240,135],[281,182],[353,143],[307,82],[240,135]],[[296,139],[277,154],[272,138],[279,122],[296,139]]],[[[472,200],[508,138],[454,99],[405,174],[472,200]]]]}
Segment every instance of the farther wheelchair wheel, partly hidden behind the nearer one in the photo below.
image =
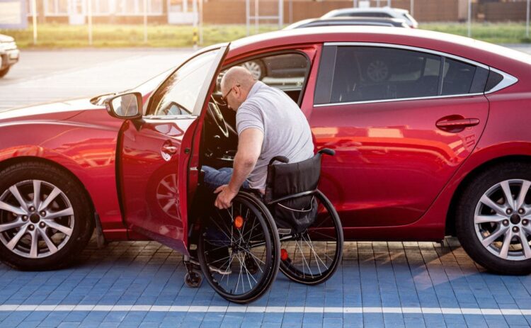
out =
{"type": "Polygon", "coordinates": [[[343,227],[338,213],[321,191],[315,194],[317,218],[305,232],[280,235],[280,271],[297,283],[324,283],[343,255],[343,227]]]}

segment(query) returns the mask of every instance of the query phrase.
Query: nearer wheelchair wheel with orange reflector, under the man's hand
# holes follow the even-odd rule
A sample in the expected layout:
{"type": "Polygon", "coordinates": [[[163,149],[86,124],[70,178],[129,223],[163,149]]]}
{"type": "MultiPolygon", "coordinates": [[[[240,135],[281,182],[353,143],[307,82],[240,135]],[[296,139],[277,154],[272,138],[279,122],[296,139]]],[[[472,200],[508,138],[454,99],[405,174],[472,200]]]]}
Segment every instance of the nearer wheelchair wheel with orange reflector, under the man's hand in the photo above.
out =
{"type": "Polygon", "coordinates": [[[198,240],[205,280],[232,302],[250,302],[263,295],[278,273],[276,232],[269,210],[250,193],[240,192],[227,210],[212,210],[202,222],[198,240]]]}

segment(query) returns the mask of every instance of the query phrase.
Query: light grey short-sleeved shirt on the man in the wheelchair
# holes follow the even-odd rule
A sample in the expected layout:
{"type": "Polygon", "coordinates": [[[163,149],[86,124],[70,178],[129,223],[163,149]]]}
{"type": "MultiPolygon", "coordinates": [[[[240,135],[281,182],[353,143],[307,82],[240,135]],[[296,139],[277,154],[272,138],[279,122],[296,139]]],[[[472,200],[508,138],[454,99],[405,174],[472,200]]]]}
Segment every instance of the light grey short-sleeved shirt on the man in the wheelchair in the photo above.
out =
{"type": "Polygon", "coordinates": [[[247,128],[262,130],[264,136],[260,157],[248,178],[251,188],[265,189],[273,157],[285,156],[295,163],[314,156],[312,131],[297,103],[261,81],[256,81],[236,111],[238,135],[247,128]]]}

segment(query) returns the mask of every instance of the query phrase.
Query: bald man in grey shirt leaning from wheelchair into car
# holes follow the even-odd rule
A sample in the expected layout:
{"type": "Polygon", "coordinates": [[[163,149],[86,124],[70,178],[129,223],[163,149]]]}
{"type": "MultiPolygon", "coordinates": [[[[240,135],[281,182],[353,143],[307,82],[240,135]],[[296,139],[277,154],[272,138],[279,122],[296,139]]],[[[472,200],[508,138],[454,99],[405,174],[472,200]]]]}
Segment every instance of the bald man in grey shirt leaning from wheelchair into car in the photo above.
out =
{"type": "Polygon", "coordinates": [[[279,89],[256,81],[243,67],[223,76],[221,91],[236,111],[238,150],[233,169],[205,167],[205,183],[217,187],[217,208],[229,208],[242,185],[265,191],[267,166],[275,156],[300,162],[314,156],[312,132],[295,101],[279,89]]]}

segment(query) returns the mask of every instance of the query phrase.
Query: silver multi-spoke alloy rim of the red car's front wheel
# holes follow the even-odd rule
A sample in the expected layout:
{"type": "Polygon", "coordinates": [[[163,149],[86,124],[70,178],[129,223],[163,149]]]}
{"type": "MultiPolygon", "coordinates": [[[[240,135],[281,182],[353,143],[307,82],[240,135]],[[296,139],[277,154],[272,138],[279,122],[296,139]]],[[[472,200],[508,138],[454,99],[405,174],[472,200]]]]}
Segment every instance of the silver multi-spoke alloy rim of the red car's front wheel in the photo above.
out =
{"type": "Polygon", "coordinates": [[[0,242],[14,254],[51,256],[67,244],[73,229],[72,204],[52,183],[20,181],[0,196],[0,242]]]}

